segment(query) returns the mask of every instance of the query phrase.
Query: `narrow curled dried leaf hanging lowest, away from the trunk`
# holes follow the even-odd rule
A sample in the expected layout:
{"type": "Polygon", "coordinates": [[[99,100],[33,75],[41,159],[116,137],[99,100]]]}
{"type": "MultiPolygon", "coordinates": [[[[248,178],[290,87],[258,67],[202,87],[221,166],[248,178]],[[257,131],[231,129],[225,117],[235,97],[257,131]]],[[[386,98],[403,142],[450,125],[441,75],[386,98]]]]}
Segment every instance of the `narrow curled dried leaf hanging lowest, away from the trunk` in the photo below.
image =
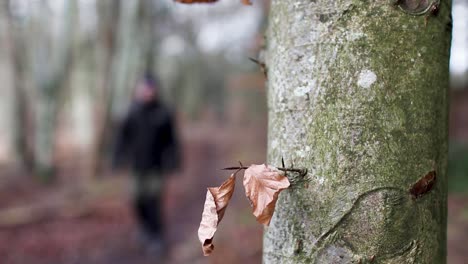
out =
{"type": "Polygon", "coordinates": [[[205,256],[209,256],[213,252],[213,236],[234,193],[235,180],[235,173],[233,173],[221,186],[210,187],[206,192],[202,220],[198,228],[198,239],[202,243],[205,256]]]}

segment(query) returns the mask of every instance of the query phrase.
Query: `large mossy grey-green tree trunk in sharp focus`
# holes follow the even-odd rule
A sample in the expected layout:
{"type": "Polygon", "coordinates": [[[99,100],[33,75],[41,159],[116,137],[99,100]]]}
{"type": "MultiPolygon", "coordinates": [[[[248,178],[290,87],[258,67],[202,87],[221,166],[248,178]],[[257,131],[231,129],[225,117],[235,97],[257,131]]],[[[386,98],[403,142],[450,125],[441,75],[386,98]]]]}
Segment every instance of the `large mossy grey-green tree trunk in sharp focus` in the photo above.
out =
{"type": "Polygon", "coordinates": [[[264,263],[446,262],[450,4],[390,2],[272,2],[268,159],[308,174],[280,195],[264,263]]]}

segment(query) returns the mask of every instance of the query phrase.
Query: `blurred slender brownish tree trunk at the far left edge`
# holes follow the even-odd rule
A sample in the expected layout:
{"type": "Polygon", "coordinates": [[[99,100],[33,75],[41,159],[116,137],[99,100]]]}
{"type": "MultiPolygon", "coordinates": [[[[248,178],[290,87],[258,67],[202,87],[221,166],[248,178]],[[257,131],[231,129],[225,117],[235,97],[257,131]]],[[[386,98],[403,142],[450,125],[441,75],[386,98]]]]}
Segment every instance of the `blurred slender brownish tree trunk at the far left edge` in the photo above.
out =
{"type": "Polygon", "coordinates": [[[27,60],[24,39],[24,29],[15,23],[10,10],[10,1],[3,3],[3,10],[7,22],[7,34],[9,40],[9,53],[11,55],[13,76],[13,134],[15,155],[19,165],[27,171],[34,164],[32,149],[28,142],[29,129],[29,107],[27,103],[26,76],[27,60]]]}

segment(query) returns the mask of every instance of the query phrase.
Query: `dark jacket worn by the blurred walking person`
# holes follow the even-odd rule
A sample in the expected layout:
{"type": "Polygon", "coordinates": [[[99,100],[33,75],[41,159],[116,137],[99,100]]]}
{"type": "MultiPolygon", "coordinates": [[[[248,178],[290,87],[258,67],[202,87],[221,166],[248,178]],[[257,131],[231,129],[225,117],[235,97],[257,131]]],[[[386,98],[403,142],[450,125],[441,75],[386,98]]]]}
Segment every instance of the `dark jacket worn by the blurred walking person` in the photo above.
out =
{"type": "Polygon", "coordinates": [[[180,152],[173,123],[162,103],[134,103],[117,131],[114,165],[129,161],[138,173],[177,169],[180,152]]]}

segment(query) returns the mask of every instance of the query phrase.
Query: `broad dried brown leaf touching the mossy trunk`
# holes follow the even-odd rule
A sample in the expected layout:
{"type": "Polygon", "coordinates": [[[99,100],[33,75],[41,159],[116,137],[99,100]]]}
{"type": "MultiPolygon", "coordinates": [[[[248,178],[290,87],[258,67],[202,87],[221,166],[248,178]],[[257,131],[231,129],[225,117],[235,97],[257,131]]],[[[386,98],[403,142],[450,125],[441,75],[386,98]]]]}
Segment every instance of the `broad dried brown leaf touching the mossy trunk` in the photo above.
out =
{"type": "Polygon", "coordinates": [[[289,187],[289,180],[273,166],[251,165],[244,173],[244,187],[257,221],[269,225],[278,195],[289,187]]]}

